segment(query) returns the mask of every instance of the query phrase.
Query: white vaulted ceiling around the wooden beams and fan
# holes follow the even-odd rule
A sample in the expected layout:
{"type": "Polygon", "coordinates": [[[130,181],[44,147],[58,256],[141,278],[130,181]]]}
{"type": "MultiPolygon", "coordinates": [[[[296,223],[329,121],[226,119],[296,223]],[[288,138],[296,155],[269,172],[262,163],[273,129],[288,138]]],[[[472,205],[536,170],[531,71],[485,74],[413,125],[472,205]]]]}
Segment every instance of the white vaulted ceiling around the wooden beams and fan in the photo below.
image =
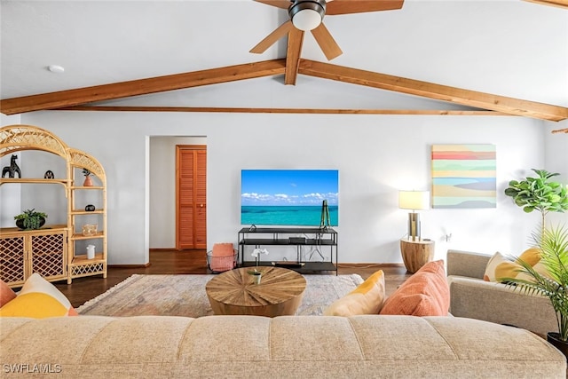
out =
{"type": "MultiPolygon", "coordinates": [[[[0,3],[0,97],[284,58],[285,39],[248,52],[288,20],[252,0],[0,3]],[[64,74],[46,67],[60,65],[64,74]]],[[[327,16],[343,55],[331,63],[568,107],[568,10],[521,0],[406,0],[398,11],[327,16]]],[[[327,62],[306,34],[302,58],[327,62]]],[[[298,75],[165,91],[100,104],[160,107],[469,109],[298,75]],[[219,93],[233,93],[219,104],[219,93]]]]}

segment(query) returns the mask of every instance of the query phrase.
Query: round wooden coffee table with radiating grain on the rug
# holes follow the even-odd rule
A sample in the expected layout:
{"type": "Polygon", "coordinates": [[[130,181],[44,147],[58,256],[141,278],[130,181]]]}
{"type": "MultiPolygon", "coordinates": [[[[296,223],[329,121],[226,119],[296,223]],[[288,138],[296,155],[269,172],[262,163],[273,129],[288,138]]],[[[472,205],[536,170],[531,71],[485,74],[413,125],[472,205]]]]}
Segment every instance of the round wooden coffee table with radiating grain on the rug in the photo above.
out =
{"type": "Polygon", "coordinates": [[[304,296],[305,279],[281,267],[241,267],[209,280],[205,292],[215,314],[294,315],[304,296]],[[262,272],[260,284],[248,273],[262,272]]]}

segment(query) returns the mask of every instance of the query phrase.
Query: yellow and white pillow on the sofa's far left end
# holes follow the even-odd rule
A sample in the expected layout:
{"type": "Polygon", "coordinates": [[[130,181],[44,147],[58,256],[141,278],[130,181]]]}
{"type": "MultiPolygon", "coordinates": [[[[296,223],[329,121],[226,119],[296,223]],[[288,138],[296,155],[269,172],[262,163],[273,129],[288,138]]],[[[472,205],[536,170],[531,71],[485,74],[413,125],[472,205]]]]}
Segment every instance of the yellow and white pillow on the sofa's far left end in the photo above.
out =
{"type": "Polygon", "coordinates": [[[20,293],[0,308],[2,317],[46,317],[76,316],[77,312],[59,289],[41,275],[34,272],[24,283],[20,293]]]}

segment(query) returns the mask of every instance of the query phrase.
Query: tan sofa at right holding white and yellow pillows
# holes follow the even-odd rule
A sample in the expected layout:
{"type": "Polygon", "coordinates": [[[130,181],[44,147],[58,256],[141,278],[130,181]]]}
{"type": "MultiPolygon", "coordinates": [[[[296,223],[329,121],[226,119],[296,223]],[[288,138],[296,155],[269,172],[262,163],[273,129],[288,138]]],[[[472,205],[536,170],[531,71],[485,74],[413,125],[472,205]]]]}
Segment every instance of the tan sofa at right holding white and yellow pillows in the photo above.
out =
{"type": "Polygon", "coordinates": [[[501,283],[484,281],[491,256],[447,251],[450,313],[531,330],[539,336],[557,332],[556,313],[545,296],[529,296],[501,283]]]}

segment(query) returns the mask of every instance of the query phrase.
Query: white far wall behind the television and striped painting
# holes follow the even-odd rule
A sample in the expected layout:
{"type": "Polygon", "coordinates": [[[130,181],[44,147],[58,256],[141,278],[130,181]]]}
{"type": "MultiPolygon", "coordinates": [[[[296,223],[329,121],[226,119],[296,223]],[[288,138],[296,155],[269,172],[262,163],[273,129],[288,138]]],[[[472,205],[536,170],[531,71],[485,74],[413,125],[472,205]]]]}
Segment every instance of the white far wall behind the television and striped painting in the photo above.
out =
{"type": "MultiPolygon", "coordinates": [[[[496,209],[422,212],[422,236],[437,242],[436,257],[445,257],[448,248],[520,253],[538,223],[538,215],[525,215],[502,194],[511,178],[545,165],[542,122],[528,118],[100,112],[21,117],[105,167],[113,265],[147,261],[146,180],[154,182],[144,163],[148,136],[207,137],[209,247],[216,241],[236,243],[241,169],[338,169],[339,261],[400,263],[398,240],[406,233],[407,215],[398,209],[398,189],[430,187],[432,144],[497,148],[496,209]],[[443,239],[446,233],[452,233],[450,242],[443,239]]],[[[155,233],[171,233],[170,225],[152,225],[155,233]]]]}

